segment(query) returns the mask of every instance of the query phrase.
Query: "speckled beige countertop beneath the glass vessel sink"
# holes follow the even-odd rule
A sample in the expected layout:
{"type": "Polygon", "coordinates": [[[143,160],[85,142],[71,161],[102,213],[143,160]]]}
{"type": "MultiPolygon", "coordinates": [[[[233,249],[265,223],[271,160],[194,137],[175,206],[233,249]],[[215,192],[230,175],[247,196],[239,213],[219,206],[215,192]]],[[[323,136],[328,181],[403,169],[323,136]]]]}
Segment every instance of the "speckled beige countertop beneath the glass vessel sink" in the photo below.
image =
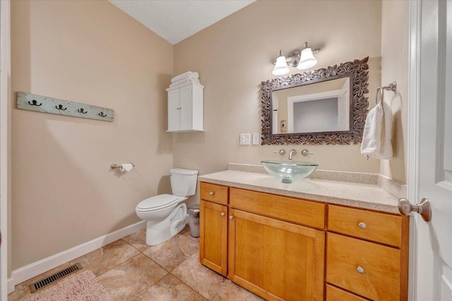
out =
{"type": "Polygon", "coordinates": [[[299,197],[330,204],[343,204],[398,214],[397,197],[378,185],[346,183],[334,180],[304,178],[291,184],[282,183],[266,173],[227,170],[199,176],[201,182],[299,197]]]}

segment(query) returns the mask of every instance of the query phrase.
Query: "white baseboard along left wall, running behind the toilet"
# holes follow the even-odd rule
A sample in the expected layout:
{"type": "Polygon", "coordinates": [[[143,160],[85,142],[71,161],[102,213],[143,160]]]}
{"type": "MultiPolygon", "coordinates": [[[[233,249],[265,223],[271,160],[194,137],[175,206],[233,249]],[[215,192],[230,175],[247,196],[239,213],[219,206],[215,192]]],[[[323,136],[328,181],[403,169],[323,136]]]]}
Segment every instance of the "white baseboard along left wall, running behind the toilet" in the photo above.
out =
{"type": "MultiPolygon", "coordinates": [[[[124,238],[129,234],[135,233],[136,231],[145,228],[145,226],[146,226],[145,221],[139,221],[138,223],[134,223],[131,226],[127,226],[125,228],[119,229],[118,231],[114,231],[107,235],[102,235],[99,238],[95,238],[81,245],[77,245],[76,247],[71,247],[71,249],[69,250],[59,252],[50,257],[41,259],[37,262],[33,262],[32,264],[23,266],[11,272],[11,278],[13,280],[12,283],[13,285],[23,283],[23,281],[27,281],[28,279],[31,279],[51,269],[54,269],[57,266],[60,266],[61,264],[70,262],[73,259],[81,257],[85,254],[88,254],[89,252],[93,252],[94,250],[99,249],[100,247],[108,245],[109,243],[124,238]]],[[[10,283],[8,280],[8,292],[9,285],[10,283]]],[[[14,291],[14,288],[11,291],[14,291]]]]}

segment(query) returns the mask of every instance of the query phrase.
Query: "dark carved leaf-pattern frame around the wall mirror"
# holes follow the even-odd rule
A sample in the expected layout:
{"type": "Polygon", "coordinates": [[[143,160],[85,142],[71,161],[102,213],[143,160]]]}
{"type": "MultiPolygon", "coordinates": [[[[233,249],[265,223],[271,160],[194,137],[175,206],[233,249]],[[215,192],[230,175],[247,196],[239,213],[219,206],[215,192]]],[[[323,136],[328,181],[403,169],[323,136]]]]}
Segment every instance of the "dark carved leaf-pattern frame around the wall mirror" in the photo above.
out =
{"type": "Polygon", "coordinates": [[[261,145],[350,145],[362,140],[364,123],[366,122],[368,98],[364,97],[369,90],[369,57],[362,60],[341,63],[303,74],[294,74],[283,78],[275,78],[262,82],[262,143],[261,145]],[[318,133],[283,133],[272,131],[272,94],[273,91],[309,85],[315,82],[350,78],[350,130],[318,133]]]}

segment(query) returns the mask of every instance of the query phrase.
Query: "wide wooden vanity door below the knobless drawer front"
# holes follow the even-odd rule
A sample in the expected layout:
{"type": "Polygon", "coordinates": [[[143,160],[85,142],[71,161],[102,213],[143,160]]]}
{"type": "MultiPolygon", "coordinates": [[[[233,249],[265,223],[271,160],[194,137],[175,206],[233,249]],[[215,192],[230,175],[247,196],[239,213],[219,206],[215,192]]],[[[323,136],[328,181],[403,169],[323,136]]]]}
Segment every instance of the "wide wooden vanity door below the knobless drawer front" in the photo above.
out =
{"type": "Polygon", "coordinates": [[[325,233],[230,209],[229,278],[266,300],[323,300],[325,233]]]}

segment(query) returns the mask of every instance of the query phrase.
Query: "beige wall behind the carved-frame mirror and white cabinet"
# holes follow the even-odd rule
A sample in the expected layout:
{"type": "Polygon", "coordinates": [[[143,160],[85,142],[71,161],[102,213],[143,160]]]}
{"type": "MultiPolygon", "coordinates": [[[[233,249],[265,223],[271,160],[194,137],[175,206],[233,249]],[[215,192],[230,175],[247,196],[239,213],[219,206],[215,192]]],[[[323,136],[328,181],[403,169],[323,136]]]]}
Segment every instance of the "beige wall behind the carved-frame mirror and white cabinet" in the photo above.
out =
{"type": "Polygon", "coordinates": [[[365,160],[360,145],[239,145],[240,133],[261,132],[261,81],[273,78],[271,62],[280,49],[288,54],[305,41],[321,48],[314,68],[369,56],[374,106],[381,79],[381,1],[256,1],[174,45],[174,74],[197,71],[206,86],[206,132],[174,134],[174,166],[205,174],[226,169],[228,162],[280,159],[274,151],[294,148],[295,159],[321,169],[379,173],[379,161],[365,160]],[[301,156],[304,148],[314,155],[301,156]]]}

